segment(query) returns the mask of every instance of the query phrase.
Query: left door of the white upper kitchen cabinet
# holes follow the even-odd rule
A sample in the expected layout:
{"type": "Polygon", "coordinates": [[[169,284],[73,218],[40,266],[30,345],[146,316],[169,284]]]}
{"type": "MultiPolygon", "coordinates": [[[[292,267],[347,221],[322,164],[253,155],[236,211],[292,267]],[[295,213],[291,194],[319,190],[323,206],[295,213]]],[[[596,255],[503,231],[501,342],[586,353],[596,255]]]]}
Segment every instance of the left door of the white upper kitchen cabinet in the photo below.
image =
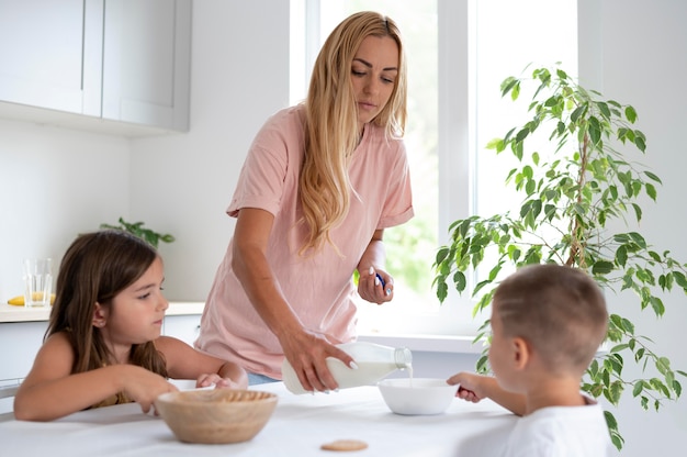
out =
{"type": "Polygon", "coordinates": [[[0,0],[0,100],[100,115],[103,0],[0,0]]]}

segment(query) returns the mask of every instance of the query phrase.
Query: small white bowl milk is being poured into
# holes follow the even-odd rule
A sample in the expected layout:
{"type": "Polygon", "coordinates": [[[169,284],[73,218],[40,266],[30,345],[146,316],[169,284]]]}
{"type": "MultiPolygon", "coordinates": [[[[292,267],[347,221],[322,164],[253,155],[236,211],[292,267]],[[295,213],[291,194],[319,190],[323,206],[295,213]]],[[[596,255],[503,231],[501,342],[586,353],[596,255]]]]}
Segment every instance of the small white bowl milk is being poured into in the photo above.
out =
{"type": "Polygon", "coordinates": [[[384,379],[378,387],[388,409],[405,415],[441,414],[458,392],[458,386],[435,378],[384,379]]]}

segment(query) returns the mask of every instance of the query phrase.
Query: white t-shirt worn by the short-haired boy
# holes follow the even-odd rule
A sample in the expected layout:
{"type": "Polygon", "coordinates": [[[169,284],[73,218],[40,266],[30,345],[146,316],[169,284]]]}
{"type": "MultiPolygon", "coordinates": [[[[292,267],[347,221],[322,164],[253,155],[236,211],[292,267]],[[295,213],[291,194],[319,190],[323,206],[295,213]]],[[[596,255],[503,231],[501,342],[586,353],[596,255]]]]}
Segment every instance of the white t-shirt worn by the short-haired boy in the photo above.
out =
{"type": "Polygon", "coordinates": [[[612,446],[604,410],[594,400],[584,406],[549,406],[518,420],[503,457],[607,457],[612,446]]]}

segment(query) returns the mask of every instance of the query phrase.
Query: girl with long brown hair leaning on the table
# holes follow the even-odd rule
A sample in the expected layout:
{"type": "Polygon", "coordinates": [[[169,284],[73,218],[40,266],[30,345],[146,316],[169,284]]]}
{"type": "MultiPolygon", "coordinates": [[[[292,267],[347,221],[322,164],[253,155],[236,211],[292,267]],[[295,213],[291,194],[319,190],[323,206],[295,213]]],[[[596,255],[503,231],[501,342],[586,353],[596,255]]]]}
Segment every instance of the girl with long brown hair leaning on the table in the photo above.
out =
{"type": "Polygon", "coordinates": [[[50,421],[88,409],[137,402],[144,413],[177,388],[246,388],[238,365],[160,336],[165,310],[162,260],[122,231],[80,235],[57,277],[45,343],[14,398],[18,420],[50,421]]]}

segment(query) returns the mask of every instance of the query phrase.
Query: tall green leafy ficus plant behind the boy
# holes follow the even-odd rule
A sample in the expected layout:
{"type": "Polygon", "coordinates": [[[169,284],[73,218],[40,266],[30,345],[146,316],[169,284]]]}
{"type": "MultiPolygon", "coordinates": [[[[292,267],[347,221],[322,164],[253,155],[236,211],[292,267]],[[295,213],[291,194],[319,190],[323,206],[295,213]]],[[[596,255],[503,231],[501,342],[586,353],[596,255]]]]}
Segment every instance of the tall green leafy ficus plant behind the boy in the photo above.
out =
{"type": "MultiPolygon", "coordinates": [[[[443,302],[449,283],[463,293],[468,278],[474,277],[471,290],[476,300],[473,314],[477,314],[491,304],[507,272],[523,265],[556,263],[587,271],[607,296],[634,292],[633,304],[662,316],[660,294],[674,288],[687,292],[687,266],[630,230],[642,219],[640,202],[656,201],[661,185],[658,176],[627,158],[629,149],[634,155],[646,149],[644,134],[633,127],[635,110],[602,100],[558,66],[537,68],[530,75],[509,77],[500,87],[502,96],[514,101],[521,89],[534,89],[529,121],[486,146],[517,158],[505,178],[506,186],[522,197],[519,212],[471,215],[450,224],[450,242],[439,248],[433,265],[437,297],[443,302]],[[528,143],[536,132],[548,135],[541,153],[528,143]],[[624,231],[613,233],[618,226],[624,231]]],[[[488,341],[488,325],[487,320],[475,341],[488,341]]],[[[613,406],[630,392],[644,410],[656,411],[664,401],[680,395],[678,378],[687,374],[656,354],[651,338],[635,334],[629,319],[610,314],[605,345],[607,350],[599,352],[587,369],[583,391],[604,397],[613,406]],[[628,361],[640,367],[643,378],[623,377],[628,361]]],[[[485,354],[476,368],[488,371],[485,354]]],[[[611,412],[605,414],[611,441],[621,449],[624,439],[618,422],[611,412]]]]}

